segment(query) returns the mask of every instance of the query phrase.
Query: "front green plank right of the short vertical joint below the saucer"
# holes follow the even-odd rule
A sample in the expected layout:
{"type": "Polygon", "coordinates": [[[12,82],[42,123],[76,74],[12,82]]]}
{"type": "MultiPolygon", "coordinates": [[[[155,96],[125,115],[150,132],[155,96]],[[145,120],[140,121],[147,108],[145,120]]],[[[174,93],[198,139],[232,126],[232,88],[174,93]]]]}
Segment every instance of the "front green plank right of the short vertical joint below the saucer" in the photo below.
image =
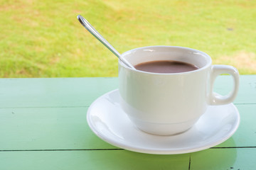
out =
{"type": "Polygon", "coordinates": [[[190,169],[255,170],[256,148],[207,149],[191,153],[190,169]]]}

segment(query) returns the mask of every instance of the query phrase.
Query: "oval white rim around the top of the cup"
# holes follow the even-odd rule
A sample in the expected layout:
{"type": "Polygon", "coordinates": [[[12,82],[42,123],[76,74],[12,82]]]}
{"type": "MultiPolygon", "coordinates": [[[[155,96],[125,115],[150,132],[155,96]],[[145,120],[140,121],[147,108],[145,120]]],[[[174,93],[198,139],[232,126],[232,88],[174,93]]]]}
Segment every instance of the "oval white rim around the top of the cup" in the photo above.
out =
{"type": "Polygon", "coordinates": [[[168,48],[176,48],[176,49],[182,49],[182,50],[190,50],[190,51],[194,51],[194,52],[199,52],[201,55],[205,56],[208,58],[208,63],[206,65],[204,65],[203,67],[199,68],[199,69],[196,69],[196,70],[193,70],[193,71],[189,71],[189,72],[178,72],[178,73],[154,73],[154,72],[144,72],[142,70],[138,70],[138,69],[132,69],[130,67],[127,67],[127,65],[125,65],[123,62],[121,62],[121,60],[118,61],[118,63],[126,68],[126,69],[129,69],[130,71],[132,72],[141,72],[141,73],[144,73],[144,74],[155,74],[155,75],[177,75],[177,74],[191,74],[191,73],[194,73],[194,72],[201,72],[203,69],[206,69],[208,67],[210,67],[210,65],[212,64],[212,60],[211,60],[211,57],[206,54],[206,52],[202,52],[200,50],[196,50],[196,49],[193,49],[193,48],[190,48],[190,47],[181,47],[181,46],[169,46],[169,45],[152,45],[152,46],[145,46],[145,47],[137,47],[137,48],[134,48],[132,50],[128,50],[124,53],[122,53],[121,57],[123,57],[124,55],[127,55],[128,53],[130,52],[134,52],[136,50],[143,50],[143,49],[148,49],[148,48],[151,48],[151,47],[168,47],[168,48]]]}

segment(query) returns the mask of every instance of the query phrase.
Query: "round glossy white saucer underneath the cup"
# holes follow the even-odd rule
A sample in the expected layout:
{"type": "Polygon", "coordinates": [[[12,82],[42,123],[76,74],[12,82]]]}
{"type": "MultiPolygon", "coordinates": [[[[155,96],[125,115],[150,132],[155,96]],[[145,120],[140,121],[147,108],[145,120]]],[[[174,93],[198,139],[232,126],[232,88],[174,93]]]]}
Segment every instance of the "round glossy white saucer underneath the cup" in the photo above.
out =
{"type": "Polygon", "coordinates": [[[196,125],[180,135],[150,135],[133,125],[119,106],[119,91],[114,90],[92,103],[87,122],[98,137],[116,147],[147,154],[183,154],[228,140],[238,129],[240,115],[233,103],[209,106],[196,125]]]}

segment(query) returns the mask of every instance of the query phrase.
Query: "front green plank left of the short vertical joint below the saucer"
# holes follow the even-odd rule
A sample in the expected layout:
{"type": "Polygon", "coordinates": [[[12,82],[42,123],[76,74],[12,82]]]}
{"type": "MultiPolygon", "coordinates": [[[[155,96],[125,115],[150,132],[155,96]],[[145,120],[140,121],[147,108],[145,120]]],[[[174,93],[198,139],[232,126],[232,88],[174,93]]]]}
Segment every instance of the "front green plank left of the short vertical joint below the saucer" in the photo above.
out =
{"type": "Polygon", "coordinates": [[[152,155],[118,151],[0,152],[0,169],[179,169],[187,170],[189,154],[152,155]]]}

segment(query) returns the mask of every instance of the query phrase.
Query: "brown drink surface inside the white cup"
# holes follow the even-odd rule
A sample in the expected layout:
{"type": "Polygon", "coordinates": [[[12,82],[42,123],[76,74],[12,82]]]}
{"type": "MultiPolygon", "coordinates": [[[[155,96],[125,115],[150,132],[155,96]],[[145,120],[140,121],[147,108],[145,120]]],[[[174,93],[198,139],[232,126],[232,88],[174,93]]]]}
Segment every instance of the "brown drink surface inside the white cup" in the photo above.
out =
{"type": "Polygon", "coordinates": [[[144,72],[153,73],[180,73],[190,72],[199,69],[196,65],[189,64],[186,62],[178,62],[173,60],[157,60],[152,62],[142,62],[134,66],[135,69],[144,72]]]}

